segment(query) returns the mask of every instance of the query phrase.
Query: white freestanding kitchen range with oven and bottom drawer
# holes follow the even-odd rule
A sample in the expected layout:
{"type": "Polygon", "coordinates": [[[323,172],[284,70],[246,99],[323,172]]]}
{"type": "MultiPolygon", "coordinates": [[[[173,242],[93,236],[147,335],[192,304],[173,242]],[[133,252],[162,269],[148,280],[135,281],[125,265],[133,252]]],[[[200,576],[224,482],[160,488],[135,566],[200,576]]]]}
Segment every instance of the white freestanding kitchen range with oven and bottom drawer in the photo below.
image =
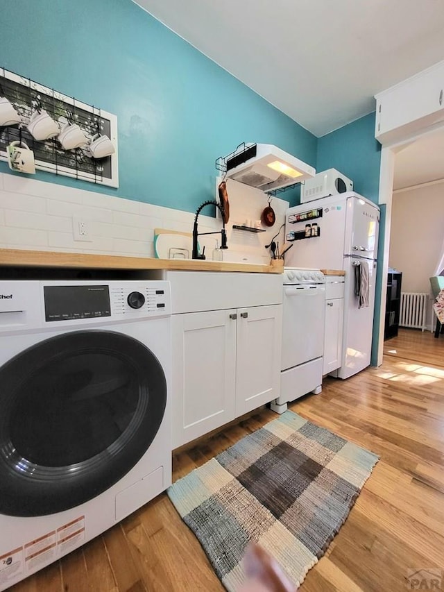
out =
{"type": "Polygon", "coordinates": [[[282,294],[282,366],[278,413],[309,392],[321,393],[325,319],[325,276],[318,269],[286,267],[282,294]]]}

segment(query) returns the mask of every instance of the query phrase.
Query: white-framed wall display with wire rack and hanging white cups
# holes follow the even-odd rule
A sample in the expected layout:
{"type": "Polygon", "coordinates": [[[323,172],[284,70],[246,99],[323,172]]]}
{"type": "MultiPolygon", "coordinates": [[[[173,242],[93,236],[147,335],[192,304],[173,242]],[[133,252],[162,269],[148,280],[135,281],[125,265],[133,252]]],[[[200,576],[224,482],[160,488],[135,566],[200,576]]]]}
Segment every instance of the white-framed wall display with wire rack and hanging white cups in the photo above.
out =
{"type": "Polygon", "coordinates": [[[0,160],[11,144],[35,169],[119,187],[117,117],[0,68],[0,160]]]}

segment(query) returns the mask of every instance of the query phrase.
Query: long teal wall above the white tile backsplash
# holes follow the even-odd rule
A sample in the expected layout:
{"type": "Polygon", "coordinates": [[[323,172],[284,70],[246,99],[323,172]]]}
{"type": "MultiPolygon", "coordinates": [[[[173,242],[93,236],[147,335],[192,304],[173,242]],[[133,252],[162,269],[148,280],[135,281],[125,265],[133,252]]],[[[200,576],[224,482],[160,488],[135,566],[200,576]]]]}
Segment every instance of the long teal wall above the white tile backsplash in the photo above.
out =
{"type": "MultiPolygon", "coordinates": [[[[241,142],[316,164],[316,137],[131,0],[22,0],[1,7],[1,67],[118,117],[119,189],[35,178],[194,212],[214,161],[241,142]]],[[[10,172],[5,162],[0,172],[10,172]]]]}

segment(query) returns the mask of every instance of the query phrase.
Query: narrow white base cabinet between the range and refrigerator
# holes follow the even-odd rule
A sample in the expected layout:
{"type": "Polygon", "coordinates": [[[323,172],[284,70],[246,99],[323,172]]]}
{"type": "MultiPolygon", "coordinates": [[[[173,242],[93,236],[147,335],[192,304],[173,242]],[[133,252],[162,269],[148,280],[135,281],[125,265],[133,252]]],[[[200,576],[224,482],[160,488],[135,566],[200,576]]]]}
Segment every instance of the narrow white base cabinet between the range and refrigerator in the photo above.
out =
{"type": "Polygon", "coordinates": [[[326,278],[323,375],[341,366],[344,285],[343,276],[326,278]]]}

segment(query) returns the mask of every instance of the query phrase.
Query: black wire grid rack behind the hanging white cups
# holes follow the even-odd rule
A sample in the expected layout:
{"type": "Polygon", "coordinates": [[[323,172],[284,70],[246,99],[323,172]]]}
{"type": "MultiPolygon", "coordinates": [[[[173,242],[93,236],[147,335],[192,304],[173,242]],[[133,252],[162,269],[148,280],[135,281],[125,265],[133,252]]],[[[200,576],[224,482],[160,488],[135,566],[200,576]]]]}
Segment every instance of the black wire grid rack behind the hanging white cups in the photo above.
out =
{"type": "MultiPolygon", "coordinates": [[[[0,68],[0,96],[6,97],[22,119],[18,126],[0,127],[0,159],[7,160],[7,147],[11,142],[24,142],[33,150],[35,168],[56,175],[87,180],[90,183],[113,185],[112,158],[100,160],[92,158],[84,147],[65,150],[57,138],[37,141],[27,129],[27,125],[35,110],[45,110],[55,121],[65,117],[70,123],[77,124],[90,141],[97,133],[112,137],[110,119],[107,119],[100,108],[87,105],[75,97],[61,94],[31,80],[0,68]],[[80,106],[82,105],[82,106],[80,106]]],[[[114,166],[117,160],[114,161],[114,166]]]]}

